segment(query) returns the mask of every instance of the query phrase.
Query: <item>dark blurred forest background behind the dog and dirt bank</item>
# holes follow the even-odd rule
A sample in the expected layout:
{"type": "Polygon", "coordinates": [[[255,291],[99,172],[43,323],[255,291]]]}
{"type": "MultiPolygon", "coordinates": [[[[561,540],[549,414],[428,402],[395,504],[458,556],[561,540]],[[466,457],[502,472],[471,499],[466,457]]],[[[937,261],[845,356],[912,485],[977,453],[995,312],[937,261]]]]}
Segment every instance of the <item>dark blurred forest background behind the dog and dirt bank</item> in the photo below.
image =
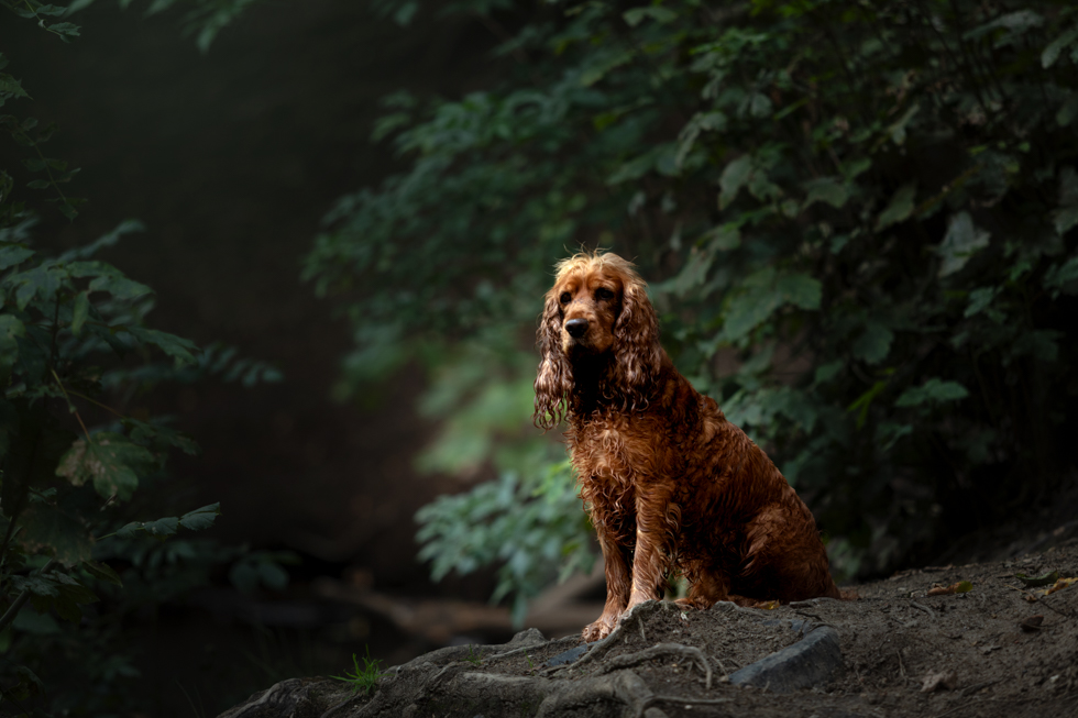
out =
{"type": "MultiPolygon", "coordinates": [[[[213,716],[353,653],[580,630],[603,582],[531,382],[542,292],[582,246],[640,266],[668,351],[776,459],[842,579],[972,560],[993,529],[1005,549],[1021,539],[999,527],[1030,511],[1074,532],[1066,3],[0,4],[4,252],[59,256],[136,219],[95,258],[153,289],[147,325],[204,350],[79,375],[90,434],[107,404],[201,453],[173,451],[122,508],[98,487],[111,523],[68,513],[221,511],[164,543],[95,542],[124,587],[79,620],[44,594],[15,610],[9,700],[213,716]],[[47,144],[20,141],[31,115],[58,124],[47,144]],[[28,189],[46,155],[80,172],[28,189]]],[[[4,312],[75,341],[80,279],[48,305],[19,262],[4,312]]],[[[20,382],[47,380],[11,336],[22,412],[20,382]]],[[[98,366],[84,354],[55,366],[98,366]]],[[[8,607],[61,555],[20,543],[14,466],[8,607]]],[[[33,506],[94,495],[46,473],[33,506]]]]}

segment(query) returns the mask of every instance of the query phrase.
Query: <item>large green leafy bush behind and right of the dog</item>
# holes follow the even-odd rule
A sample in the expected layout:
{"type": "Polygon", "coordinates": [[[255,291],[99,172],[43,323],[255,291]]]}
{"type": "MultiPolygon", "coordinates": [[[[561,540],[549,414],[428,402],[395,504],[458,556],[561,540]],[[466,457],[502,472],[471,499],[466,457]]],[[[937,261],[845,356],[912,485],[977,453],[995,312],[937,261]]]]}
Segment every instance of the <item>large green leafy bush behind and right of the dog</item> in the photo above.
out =
{"type": "MultiPolygon", "coordinates": [[[[652,280],[666,347],[796,484],[839,573],[1058,484],[1078,393],[1070,3],[515,11],[497,88],[387,98],[377,134],[407,169],[342,198],[308,257],[318,291],[351,292],[345,386],[425,343],[522,343],[553,263],[603,245],[652,280]]],[[[509,561],[501,527],[537,504],[571,510],[568,480],[529,499],[528,475],[420,512],[436,576],[509,561]]]]}

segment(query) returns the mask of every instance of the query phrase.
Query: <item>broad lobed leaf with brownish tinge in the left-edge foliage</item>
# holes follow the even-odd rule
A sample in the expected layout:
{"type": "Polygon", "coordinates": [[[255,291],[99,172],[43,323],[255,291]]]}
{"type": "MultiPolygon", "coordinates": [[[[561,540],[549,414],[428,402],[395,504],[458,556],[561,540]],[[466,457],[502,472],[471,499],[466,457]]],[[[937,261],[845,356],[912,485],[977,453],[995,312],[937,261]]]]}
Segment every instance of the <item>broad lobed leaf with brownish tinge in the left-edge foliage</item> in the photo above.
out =
{"type": "Polygon", "coordinates": [[[145,448],[133,444],[122,434],[102,431],[88,440],[78,439],[61,457],[56,475],[75,486],[92,482],[101,496],[131,498],[139,486],[136,468],[154,464],[145,448]]]}

